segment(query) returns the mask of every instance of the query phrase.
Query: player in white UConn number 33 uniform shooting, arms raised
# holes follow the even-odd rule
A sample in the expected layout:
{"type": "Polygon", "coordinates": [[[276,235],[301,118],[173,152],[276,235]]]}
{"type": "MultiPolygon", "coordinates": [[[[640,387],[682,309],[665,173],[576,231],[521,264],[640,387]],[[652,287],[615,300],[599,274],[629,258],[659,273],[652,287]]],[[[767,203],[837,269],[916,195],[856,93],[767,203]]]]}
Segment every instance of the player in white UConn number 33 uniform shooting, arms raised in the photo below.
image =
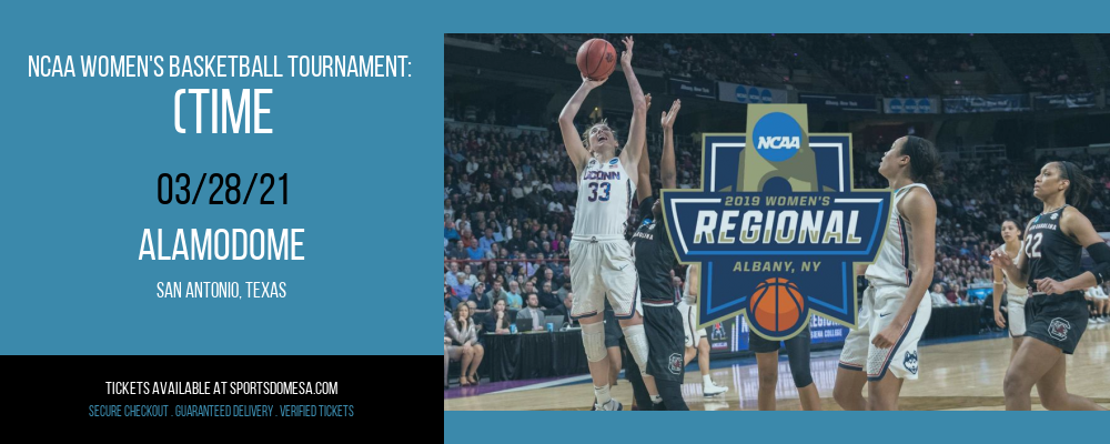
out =
{"type": "MultiPolygon", "coordinates": [[[[628,140],[616,155],[616,134],[604,121],[578,139],[574,117],[586,94],[605,83],[585,75],[578,91],[563,107],[558,123],[566,153],[578,174],[578,200],[571,238],[571,285],[574,289],[571,317],[582,323],[582,343],[594,382],[594,410],[615,411],[622,405],[609,395],[609,363],[605,351],[604,301],[608,297],[625,335],[633,360],[646,369],[648,345],[639,314],[636,264],[625,240],[632,210],[635,178],[644,155],[647,102],[632,69],[633,38],[624,39],[620,68],[632,93],[633,118],[628,140]]],[[[650,376],[644,377],[648,392],[658,394],[650,376]]]]}

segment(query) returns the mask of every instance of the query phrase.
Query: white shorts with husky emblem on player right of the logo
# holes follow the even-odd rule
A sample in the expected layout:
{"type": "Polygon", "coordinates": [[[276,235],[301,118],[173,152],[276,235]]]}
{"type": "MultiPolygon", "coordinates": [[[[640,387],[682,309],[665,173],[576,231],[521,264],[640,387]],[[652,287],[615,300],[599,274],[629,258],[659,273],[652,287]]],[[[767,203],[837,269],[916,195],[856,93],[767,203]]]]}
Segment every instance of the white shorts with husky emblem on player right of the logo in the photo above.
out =
{"type": "Polygon", "coordinates": [[[907,286],[869,286],[864,292],[864,307],[859,311],[859,326],[848,332],[840,352],[840,367],[862,371],[868,381],[879,381],[889,369],[896,377],[916,380],[918,371],[917,343],[932,314],[929,297],[921,297],[917,312],[902,327],[895,346],[879,349],[871,344],[875,335],[890,325],[895,314],[906,301],[907,286]]]}

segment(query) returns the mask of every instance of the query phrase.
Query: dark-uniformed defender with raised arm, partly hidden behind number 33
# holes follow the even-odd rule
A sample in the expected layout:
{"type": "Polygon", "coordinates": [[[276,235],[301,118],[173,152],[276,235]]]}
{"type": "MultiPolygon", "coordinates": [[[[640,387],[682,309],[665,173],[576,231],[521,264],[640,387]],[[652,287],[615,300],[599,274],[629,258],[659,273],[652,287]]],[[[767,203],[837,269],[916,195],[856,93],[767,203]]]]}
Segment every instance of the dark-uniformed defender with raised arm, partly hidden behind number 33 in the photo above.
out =
{"type": "MultiPolygon", "coordinates": [[[[682,102],[675,100],[670,111],[663,112],[663,159],[659,176],[663,188],[676,186],[674,124],[682,102]]],[[[650,165],[647,154],[639,159],[639,224],[632,236],[633,258],[639,279],[644,305],[644,331],[647,334],[648,361],[646,373],[655,377],[658,396],[652,396],[652,406],[643,410],[686,411],[682,383],[685,377],[683,362],[683,319],[675,309],[677,294],[672,285],[670,271],[678,264],[670,246],[669,234],[663,222],[663,205],[652,195],[650,165]]]]}

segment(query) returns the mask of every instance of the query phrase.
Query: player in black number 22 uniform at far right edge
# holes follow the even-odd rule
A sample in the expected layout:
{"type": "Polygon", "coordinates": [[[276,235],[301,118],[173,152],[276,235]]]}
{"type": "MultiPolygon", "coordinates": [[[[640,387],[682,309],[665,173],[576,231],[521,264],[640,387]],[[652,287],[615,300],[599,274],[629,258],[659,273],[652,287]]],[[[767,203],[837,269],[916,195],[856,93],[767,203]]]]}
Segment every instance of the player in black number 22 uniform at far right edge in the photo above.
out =
{"type": "Polygon", "coordinates": [[[1087,330],[1083,290],[1110,278],[1110,246],[1094,231],[1082,206],[1091,191],[1090,180],[1071,162],[1050,162],[1033,182],[1033,196],[1043,212],[1026,228],[1023,249],[1015,262],[995,252],[991,260],[1029,286],[1026,301],[1026,337],[1006,371],[1002,391],[1006,410],[1030,410],[1030,390],[1037,386],[1048,410],[1106,410],[1090,400],[1068,393],[1067,360],[1087,330]],[[1094,261],[1091,271],[1079,265],[1082,249],[1094,261]]]}

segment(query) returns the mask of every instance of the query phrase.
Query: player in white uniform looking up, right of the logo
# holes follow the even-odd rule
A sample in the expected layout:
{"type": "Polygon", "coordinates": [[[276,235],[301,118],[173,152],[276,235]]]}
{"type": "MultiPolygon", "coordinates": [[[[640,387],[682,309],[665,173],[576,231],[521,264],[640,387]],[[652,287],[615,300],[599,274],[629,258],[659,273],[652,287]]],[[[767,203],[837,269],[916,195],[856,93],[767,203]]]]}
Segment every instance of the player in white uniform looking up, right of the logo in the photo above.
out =
{"type": "Polygon", "coordinates": [[[882,155],[879,174],[895,196],[882,248],[866,268],[869,285],[858,326],[840,353],[833,396],[844,410],[897,410],[902,380],[917,379],[917,343],[932,310],[925,295],[936,256],[937,203],[926,183],[936,182],[939,170],[936,148],[918,137],[896,140],[882,155]]]}

